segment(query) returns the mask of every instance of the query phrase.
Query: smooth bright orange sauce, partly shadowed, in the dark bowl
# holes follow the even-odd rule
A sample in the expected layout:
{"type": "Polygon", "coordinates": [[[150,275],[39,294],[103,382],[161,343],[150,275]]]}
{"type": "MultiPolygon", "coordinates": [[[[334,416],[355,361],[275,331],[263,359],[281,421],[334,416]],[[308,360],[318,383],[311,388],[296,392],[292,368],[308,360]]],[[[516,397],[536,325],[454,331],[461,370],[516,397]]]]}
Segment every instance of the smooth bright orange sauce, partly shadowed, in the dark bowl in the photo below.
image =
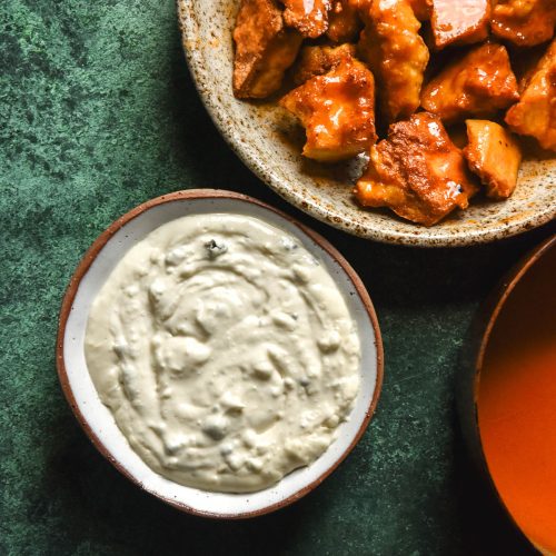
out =
{"type": "Polygon", "coordinates": [[[556,554],[556,248],[527,270],[502,308],[477,405],[499,496],[532,543],[556,554]]]}

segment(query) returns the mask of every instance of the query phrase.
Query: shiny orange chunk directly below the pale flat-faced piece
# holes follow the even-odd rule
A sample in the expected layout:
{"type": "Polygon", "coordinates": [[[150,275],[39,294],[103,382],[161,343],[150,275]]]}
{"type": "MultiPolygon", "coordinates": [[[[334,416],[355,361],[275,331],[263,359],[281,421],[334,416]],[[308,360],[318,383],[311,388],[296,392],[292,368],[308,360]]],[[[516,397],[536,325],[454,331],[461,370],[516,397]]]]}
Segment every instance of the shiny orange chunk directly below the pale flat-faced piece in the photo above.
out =
{"type": "Polygon", "coordinates": [[[471,115],[492,116],[518,99],[506,49],[485,43],[433,78],[423,89],[421,106],[451,123],[471,115]]]}

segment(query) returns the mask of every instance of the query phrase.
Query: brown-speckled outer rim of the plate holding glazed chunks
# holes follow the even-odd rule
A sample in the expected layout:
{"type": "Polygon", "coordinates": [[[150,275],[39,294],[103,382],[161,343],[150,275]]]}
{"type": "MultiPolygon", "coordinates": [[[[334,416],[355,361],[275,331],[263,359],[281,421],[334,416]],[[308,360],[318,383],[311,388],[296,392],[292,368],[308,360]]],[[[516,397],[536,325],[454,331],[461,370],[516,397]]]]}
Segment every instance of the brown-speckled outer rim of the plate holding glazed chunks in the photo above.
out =
{"type": "MultiPolygon", "coordinates": [[[[332,226],[353,236],[379,241],[383,244],[403,245],[419,248],[443,248],[443,247],[468,247],[474,245],[489,244],[493,241],[503,240],[519,234],[524,234],[534,228],[540,227],[556,217],[556,205],[548,205],[544,211],[537,211],[520,221],[514,221],[512,218],[500,220],[493,228],[483,228],[480,222],[473,230],[461,230],[457,235],[453,235],[449,230],[437,232],[434,236],[421,234],[423,230],[428,230],[425,226],[414,225],[415,234],[400,231],[395,229],[383,229],[379,224],[369,226],[360,222],[354,222],[341,210],[331,212],[330,209],[321,206],[312,195],[302,196],[299,191],[292,190],[288,183],[278,177],[271,166],[265,163],[257,157],[249,153],[249,148],[240,135],[229,125],[229,113],[221,106],[221,102],[212,101],[208,95],[202,91],[200,83],[202,76],[207,72],[207,68],[202,60],[196,54],[196,44],[199,39],[195,34],[196,21],[195,9],[191,6],[196,0],[176,0],[178,27],[181,34],[181,46],[185,52],[185,58],[189,72],[195,82],[197,92],[205,106],[210,119],[220,132],[221,137],[228,143],[230,149],[239,157],[244,165],[255,173],[255,176],[270,187],[287,202],[294,205],[299,210],[320,220],[321,222],[332,226]]],[[[231,88],[231,77],[230,77],[231,88]]],[[[363,209],[361,209],[363,210],[363,209]]],[[[398,217],[390,215],[393,221],[398,217]]],[[[407,225],[410,222],[404,221],[407,225]]],[[[438,228],[436,228],[438,229],[438,228]]]]}

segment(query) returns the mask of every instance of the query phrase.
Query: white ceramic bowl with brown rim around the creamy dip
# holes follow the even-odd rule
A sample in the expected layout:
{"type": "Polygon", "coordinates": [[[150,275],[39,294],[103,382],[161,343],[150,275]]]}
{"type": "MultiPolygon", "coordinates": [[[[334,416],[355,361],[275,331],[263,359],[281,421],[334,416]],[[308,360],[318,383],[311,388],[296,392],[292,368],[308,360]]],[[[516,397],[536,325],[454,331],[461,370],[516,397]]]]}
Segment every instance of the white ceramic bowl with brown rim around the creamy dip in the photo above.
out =
{"type": "Polygon", "coordinates": [[[354,269],[316,232],[256,199],[220,190],[179,191],[150,200],[113,222],[87,251],[63,299],[57,342],[57,365],[66,397],[100,453],[143,490],[179,509],[208,517],[240,518],[286,506],[318,486],[361,437],[377,405],[383,381],[383,345],[369,296],[354,269]],[[87,370],[83,351],[92,300],[123,255],[159,226],[187,215],[232,212],[258,217],[297,237],[324,261],[358,325],[361,385],[349,420],[338,438],[310,466],[292,471],[277,485],[250,494],[209,493],[172,483],[155,473],[131,449],[109,409],[100,401],[87,370]]]}

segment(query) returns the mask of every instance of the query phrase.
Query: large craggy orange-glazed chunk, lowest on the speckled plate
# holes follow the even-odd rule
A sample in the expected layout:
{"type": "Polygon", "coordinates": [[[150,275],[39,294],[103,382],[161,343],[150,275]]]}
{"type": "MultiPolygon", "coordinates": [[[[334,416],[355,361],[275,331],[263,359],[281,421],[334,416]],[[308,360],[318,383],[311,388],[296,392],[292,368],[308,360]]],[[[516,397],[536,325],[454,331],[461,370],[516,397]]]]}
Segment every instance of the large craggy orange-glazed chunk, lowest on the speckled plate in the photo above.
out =
{"type": "Polygon", "coordinates": [[[440,119],[419,112],[393,123],[370,149],[355,196],[364,207],[388,207],[401,218],[433,226],[467,208],[477,188],[440,119]]]}

